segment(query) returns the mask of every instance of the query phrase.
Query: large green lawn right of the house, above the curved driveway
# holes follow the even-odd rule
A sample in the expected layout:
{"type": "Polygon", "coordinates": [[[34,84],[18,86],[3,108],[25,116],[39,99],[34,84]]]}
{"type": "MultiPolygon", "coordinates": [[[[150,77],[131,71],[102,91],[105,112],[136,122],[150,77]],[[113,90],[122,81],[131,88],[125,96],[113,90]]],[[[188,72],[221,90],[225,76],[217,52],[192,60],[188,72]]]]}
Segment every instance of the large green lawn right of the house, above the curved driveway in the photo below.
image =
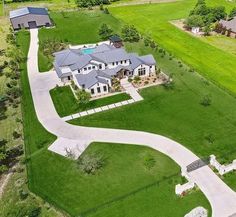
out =
{"type": "Polygon", "coordinates": [[[175,87],[152,87],[141,91],[144,101],[72,120],[85,126],[133,129],[172,138],[198,156],[215,154],[222,162],[236,158],[236,101],[227,92],[206,81],[197,73],[180,68],[169,57],[160,57],[142,43],[128,44],[127,49],[140,54],[153,53],[159,66],[173,75],[175,87]],[[200,104],[210,95],[212,104],[200,104]]]}

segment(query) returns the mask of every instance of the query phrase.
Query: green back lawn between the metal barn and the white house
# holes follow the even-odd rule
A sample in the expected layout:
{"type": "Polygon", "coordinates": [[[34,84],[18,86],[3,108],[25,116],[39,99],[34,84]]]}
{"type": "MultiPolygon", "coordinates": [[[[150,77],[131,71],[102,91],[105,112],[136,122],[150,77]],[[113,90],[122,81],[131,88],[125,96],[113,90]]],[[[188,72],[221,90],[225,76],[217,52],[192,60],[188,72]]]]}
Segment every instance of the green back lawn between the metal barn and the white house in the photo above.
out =
{"type": "MultiPolygon", "coordinates": [[[[73,45],[96,43],[101,41],[98,30],[103,23],[109,25],[114,33],[120,32],[120,22],[110,14],[104,14],[98,10],[65,12],[64,14],[52,12],[50,15],[56,23],[56,28],[41,29],[39,31],[40,41],[56,38],[73,45]]],[[[40,47],[39,71],[44,72],[51,68],[52,59],[46,58],[40,47]]]]}

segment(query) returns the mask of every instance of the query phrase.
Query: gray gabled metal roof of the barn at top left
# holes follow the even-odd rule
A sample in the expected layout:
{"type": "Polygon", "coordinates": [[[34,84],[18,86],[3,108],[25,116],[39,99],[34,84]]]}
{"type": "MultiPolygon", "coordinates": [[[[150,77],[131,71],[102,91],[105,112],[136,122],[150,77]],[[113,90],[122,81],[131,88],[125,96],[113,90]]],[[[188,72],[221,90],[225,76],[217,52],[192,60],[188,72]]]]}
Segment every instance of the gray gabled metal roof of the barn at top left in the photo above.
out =
{"type": "Polygon", "coordinates": [[[34,8],[34,7],[20,8],[14,11],[10,11],[10,18],[12,19],[27,14],[48,15],[48,10],[46,8],[34,8]]]}

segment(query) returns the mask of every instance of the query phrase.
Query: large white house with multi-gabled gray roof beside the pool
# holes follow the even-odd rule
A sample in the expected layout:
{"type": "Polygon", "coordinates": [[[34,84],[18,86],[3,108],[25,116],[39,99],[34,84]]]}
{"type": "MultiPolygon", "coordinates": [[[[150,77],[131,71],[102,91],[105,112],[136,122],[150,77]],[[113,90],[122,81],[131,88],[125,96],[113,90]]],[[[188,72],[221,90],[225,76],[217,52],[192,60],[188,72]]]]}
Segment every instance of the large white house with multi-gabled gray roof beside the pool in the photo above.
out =
{"type": "Polygon", "coordinates": [[[54,53],[54,68],[58,77],[75,84],[92,96],[106,94],[112,86],[112,78],[125,76],[149,76],[156,71],[152,55],[138,56],[123,48],[101,44],[93,50],[66,49],[54,53]]]}

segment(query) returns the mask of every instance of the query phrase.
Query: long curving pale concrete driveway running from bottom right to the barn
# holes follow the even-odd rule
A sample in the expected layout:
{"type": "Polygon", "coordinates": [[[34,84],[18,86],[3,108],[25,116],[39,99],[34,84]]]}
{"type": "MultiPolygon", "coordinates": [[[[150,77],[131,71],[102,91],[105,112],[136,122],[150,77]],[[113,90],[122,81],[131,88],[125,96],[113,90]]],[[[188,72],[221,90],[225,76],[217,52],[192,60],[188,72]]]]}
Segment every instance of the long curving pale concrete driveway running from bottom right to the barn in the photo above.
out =
{"type": "MultiPolygon", "coordinates": [[[[49,90],[59,81],[55,72],[38,72],[38,30],[33,29],[30,32],[27,67],[32,97],[39,121],[49,132],[58,137],[54,143],[54,151],[58,150],[60,153],[60,145],[69,147],[70,142],[72,146],[74,144],[80,146],[83,151],[88,144],[97,141],[145,145],[168,155],[181,168],[198,159],[181,144],[160,135],[140,131],[81,127],[64,122],[58,116],[49,95],[49,90]]],[[[236,213],[236,193],[210,168],[202,167],[189,175],[210,201],[214,217],[228,217],[236,213]]]]}

